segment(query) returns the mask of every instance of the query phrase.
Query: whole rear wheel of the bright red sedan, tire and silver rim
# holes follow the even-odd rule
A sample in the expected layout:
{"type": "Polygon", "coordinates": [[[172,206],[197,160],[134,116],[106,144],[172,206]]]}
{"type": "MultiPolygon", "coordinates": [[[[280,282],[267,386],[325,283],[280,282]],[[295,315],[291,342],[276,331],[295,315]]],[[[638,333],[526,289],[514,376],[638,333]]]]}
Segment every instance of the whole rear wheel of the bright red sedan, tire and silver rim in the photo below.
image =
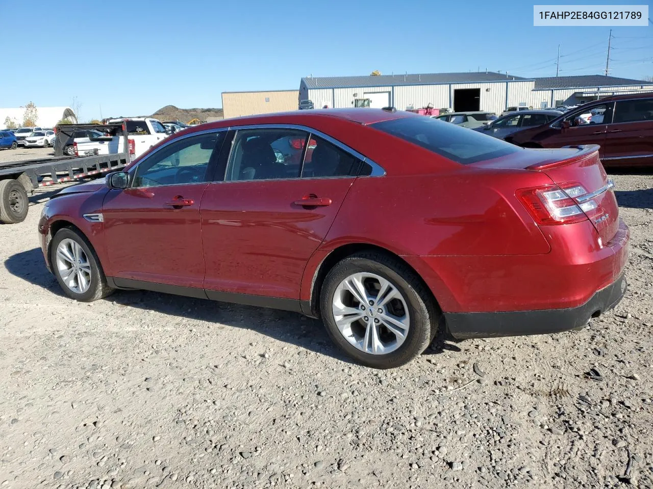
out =
{"type": "Polygon", "coordinates": [[[390,256],[361,252],[336,264],[321,289],[329,336],[366,366],[401,366],[424,351],[439,313],[419,277],[390,256]]]}

